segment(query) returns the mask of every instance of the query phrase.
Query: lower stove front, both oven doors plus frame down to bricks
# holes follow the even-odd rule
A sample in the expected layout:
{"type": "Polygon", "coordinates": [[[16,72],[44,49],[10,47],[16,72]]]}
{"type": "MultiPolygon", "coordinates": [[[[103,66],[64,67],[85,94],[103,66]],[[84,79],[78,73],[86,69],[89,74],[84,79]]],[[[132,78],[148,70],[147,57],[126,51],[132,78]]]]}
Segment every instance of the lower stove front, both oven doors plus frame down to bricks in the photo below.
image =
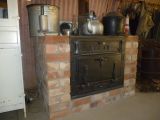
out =
{"type": "Polygon", "coordinates": [[[121,54],[76,56],[71,67],[72,98],[123,86],[121,54]]]}

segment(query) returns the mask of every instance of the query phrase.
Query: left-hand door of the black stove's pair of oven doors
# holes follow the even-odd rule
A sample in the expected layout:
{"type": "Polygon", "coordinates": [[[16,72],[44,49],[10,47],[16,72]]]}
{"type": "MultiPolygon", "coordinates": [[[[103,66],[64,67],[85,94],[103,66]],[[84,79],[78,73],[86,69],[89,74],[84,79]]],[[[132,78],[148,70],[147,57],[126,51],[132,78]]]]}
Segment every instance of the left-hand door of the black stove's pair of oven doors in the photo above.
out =
{"type": "Polygon", "coordinates": [[[78,81],[83,84],[100,80],[101,68],[98,61],[99,56],[80,56],[76,60],[76,74],[78,81]]]}

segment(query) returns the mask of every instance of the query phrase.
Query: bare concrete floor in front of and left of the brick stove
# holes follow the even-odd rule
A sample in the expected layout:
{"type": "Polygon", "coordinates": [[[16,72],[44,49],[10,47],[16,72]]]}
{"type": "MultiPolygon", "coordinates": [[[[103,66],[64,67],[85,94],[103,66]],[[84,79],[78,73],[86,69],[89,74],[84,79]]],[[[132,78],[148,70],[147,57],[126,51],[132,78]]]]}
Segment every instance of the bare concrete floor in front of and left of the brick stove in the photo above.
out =
{"type": "MultiPolygon", "coordinates": [[[[40,100],[27,106],[27,119],[22,110],[1,113],[0,120],[47,120],[40,100]]],[[[61,120],[160,120],[160,93],[136,93],[81,113],[74,113],[61,120]]]]}

